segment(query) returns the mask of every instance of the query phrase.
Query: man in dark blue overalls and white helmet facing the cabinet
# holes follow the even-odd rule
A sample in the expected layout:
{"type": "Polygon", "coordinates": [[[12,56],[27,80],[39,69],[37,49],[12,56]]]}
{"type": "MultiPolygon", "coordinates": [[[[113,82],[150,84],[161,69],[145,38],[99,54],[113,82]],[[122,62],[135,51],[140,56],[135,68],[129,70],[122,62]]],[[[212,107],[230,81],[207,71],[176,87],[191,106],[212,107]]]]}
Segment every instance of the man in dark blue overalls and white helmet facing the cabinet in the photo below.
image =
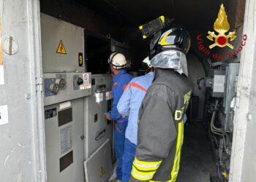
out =
{"type": "Polygon", "coordinates": [[[124,69],[127,67],[127,60],[121,53],[113,52],[108,59],[110,64],[110,70],[114,74],[112,79],[112,109],[106,114],[108,120],[113,120],[115,122],[114,130],[114,143],[115,143],[115,152],[116,152],[116,179],[113,181],[121,181],[122,178],[122,157],[124,154],[124,141],[125,141],[125,130],[127,129],[128,117],[121,116],[117,111],[117,103],[121,98],[124,90],[127,87],[127,84],[131,81],[132,76],[127,73],[124,69]]]}

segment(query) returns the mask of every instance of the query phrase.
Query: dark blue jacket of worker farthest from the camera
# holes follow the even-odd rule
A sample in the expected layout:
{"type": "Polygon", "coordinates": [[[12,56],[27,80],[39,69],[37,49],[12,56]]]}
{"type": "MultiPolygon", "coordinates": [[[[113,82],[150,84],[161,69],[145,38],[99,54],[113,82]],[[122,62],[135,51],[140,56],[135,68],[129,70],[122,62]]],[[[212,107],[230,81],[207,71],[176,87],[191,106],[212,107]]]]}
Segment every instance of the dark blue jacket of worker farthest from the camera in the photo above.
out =
{"type": "Polygon", "coordinates": [[[121,95],[123,94],[125,88],[127,87],[127,84],[131,81],[132,76],[127,73],[125,70],[121,70],[116,74],[116,76],[112,79],[112,91],[111,95],[113,98],[112,103],[112,109],[109,111],[110,117],[113,120],[121,120],[121,121],[127,121],[127,118],[122,118],[121,115],[117,111],[117,103],[119,99],[121,98],[121,95]]]}

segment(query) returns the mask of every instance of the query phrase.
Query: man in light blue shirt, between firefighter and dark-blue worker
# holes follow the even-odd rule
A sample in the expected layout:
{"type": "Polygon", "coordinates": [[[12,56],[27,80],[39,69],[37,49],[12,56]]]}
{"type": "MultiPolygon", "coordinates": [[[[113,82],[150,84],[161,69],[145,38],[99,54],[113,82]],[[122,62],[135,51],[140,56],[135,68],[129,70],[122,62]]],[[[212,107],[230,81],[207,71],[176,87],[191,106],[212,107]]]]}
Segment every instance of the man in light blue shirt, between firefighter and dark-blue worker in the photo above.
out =
{"type": "Polygon", "coordinates": [[[117,105],[119,114],[129,117],[127,131],[125,132],[122,182],[128,182],[132,172],[132,162],[135,159],[137,145],[138,113],[142,100],[154,77],[154,69],[151,68],[148,57],[143,60],[143,63],[146,63],[148,67],[148,74],[132,79],[117,105]]]}

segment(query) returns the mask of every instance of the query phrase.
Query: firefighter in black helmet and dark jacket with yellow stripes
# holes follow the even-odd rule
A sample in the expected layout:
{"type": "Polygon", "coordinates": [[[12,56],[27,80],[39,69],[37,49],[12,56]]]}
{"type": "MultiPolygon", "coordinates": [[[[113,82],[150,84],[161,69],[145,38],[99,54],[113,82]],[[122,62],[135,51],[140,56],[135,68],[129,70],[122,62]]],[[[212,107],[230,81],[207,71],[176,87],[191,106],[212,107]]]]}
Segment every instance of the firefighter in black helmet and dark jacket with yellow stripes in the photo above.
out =
{"type": "Polygon", "coordinates": [[[192,84],[186,54],[190,36],[181,25],[155,34],[149,58],[154,81],[140,106],[138,146],[129,182],[176,181],[184,138],[183,116],[192,84]]]}

